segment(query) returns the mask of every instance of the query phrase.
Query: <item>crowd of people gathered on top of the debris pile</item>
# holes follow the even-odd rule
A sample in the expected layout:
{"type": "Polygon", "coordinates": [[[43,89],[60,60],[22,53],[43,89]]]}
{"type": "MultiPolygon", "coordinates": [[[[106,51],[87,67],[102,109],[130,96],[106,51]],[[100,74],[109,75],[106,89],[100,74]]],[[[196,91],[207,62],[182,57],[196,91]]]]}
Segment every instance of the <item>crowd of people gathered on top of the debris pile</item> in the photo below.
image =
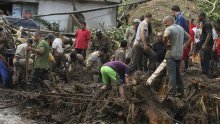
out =
{"type": "Polygon", "coordinates": [[[128,83],[131,73],[141,70],[151,75],[166,59],[169,82],[172,86],[170,95],[183,96],[180,66],[184,65],[183,70],[187,69],[190,56],[194,60],[200,54],[202,72],[208,76],[213,49],[217,51],[218,56],[220,55],[220,40],[218,36],[213,38],[214,27],[207,20],[205,13],[199,14],[198,23],[194,24],[193,21],[187,23],[178,5],[174,5],[171,11],[173,15],[163,19],[166,29],[157,33],[156,42],[151,38],[153,15],[146,13],[144,17],[133,21],[116,51],[112,49],[111,39],[100,29],[96,31],[95,37],[91,37],[86,22],[81,22],[81,28],[76,31],[75,42],[72,44],[74,50],[68,55],[64,54],[65,36],[60,34],[55,38],[53,34],[48,34],[43,39],[41,33],[36,32],[32,39],[17,46],[13,61],[16,67],[15,74],[24,74],[24,69],[20,69],[19,72],[19,66],[24,67],[28,60],[29,67],[33,67],[33,87],[40,88],[42,81],[48,80],[50,62],[57,68],[66,66],[68,62],[73,70],[79,66],[84,72],[90,73],[95,83],[103,82],[103,89],[115,84],[121,97],[125,97],[123,86],[128,83]],[[34,60],[29,57],[30,53],[34,54],[34,60]]]}

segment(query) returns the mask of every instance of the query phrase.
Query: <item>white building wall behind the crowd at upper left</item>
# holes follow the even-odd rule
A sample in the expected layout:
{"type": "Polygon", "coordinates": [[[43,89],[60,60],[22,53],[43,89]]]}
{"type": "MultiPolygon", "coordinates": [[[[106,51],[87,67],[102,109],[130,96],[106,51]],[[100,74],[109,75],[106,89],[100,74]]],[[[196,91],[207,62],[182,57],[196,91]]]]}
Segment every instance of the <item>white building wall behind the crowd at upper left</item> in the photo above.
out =
{"type": "MultiPolygon", "coordinates": [[[[17,0],[10,0],[12,2],[16,2],[17,0]]],[[[86,10],[93,9],[97,7],[108,6],[113,3],[104,2],[106,0],[102,0],[102,2],[94,2],[93,0],[87,0],[87,2],[78,0],[75,3],[76,10],[86,10]]],[[[108,1],[108,0],[107,0],[108,1]]],[[[114,0],[109,0],[114,1],[114,0]]],[[[118,2],[120,0],[115,0],[118,2]]],[[[24,8],[28,8],[30,6],[37,5],[38,8],[33,9],[37,10],[37,12],[33,11],[32,14],[35,15],[44,15],[51,13],[63,13],[63,12],[71,12],[73,11],[72,0],[21,0],[21,2],[25,2],[24,8]]],[[[24,9],[23,8],[23,9],[24,9]]],[[[32,7],[33,8],[33,7],[32,7]]],[[[24,10],[23,10],[24,11],[24,10]]],[[[104,26],[104,28],[109,29],[109,26],[116,26],[116,9],[103,9],[98,11],[86,12],[82,13],[85,17],[85,21],[87,23],[88,28],[97,29],[101,28],[100,24],[104,26]]],[[[70,15],[54,15],[54,16],[45,16],[43,17],[45,20],[49,22],[57,22],[60,25],[60,30],[67,32],[70,31],[71,28],[71,20],[72,17],[70,15]],[[68,27],[69,26],[69,27],[68,27]]]]}

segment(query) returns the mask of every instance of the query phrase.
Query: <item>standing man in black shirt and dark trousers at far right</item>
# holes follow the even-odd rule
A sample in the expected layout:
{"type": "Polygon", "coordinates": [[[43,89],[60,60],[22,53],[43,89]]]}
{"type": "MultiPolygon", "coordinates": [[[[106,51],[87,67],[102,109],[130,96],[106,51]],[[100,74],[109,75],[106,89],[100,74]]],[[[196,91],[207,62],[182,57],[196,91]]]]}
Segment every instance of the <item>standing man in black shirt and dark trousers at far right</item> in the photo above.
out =
{"type": "Polygon", "coordinates": [[[200,50],[202,73],[209,76],[209,64],[211,60],[211,52],[213,47],[212,37],[212,25],[206,20],[206,14],[200,13],[198,16],[200,22],[202,22],[202,34],[200,36],[200,50]]]}

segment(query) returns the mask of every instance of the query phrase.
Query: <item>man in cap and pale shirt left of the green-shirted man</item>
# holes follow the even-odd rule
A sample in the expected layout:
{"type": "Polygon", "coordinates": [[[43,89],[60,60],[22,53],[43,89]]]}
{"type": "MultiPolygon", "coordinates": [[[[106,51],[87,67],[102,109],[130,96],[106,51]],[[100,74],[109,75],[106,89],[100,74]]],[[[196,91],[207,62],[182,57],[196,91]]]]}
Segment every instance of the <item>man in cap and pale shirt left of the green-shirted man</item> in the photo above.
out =
{"type": "MultiPolygon", "coordinates": [[[[15,74],[14,74],[14,82],[21,82],[23,79],[25,79],[24,77],[24,73],[25,73],[25,62],[26,62],[26,55],[27,55],[27,51],[26,48],[27,46],[32,46],[33,44],[33,40],[32,39],[28,39],[26,40],[25,43],[22,43],[20,45],[17,46],[16,51],[15,51],[15,57],[13,59],[13,65],[15,67],[15,74]]],[[[28,70],[31,70],[32,64],[33,64],[33,59],[29,58],[28,60],[28,70]]]]}

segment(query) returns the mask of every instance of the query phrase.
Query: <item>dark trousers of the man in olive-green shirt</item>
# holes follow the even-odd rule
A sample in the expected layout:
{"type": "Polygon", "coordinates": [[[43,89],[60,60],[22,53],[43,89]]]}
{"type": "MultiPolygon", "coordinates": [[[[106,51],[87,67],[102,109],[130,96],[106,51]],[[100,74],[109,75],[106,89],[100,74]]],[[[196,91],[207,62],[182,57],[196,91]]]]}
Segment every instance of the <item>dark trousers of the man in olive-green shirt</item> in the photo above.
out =
{"type": "Polygon", "coordinates": [[[43,81],[49,79],[48,70],[34,68],[32,71],[32,86],[34,89],[41,89],[43,81]]]}

